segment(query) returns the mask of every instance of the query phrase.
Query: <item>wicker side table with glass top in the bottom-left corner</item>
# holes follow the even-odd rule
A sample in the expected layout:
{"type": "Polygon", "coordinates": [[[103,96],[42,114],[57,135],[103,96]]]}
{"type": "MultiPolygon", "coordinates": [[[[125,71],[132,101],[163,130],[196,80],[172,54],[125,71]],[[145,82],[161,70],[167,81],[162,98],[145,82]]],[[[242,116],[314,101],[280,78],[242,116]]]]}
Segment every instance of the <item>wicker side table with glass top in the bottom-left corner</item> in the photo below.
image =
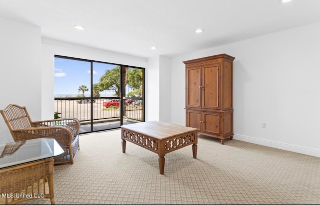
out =
{"type": "Polygon", "coordinates": [[[62,153],[53,138],[0,144],[0,204],[47,198],[54,205],[53,157],[62,153]]]}

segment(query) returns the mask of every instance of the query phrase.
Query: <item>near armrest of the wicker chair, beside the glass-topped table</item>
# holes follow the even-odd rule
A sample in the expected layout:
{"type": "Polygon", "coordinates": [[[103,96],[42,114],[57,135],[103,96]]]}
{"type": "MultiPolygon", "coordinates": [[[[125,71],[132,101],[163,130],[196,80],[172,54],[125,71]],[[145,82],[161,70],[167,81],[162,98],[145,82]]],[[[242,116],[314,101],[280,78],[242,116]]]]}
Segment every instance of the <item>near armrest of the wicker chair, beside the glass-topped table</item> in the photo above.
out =
{"type": "Polygon", "coordinates": [[[12,130],[14,141],[23,141],[36,138],[54,138],[62,148],[72,143],[73,130],[65,125],[40,126],[12,130]]]}

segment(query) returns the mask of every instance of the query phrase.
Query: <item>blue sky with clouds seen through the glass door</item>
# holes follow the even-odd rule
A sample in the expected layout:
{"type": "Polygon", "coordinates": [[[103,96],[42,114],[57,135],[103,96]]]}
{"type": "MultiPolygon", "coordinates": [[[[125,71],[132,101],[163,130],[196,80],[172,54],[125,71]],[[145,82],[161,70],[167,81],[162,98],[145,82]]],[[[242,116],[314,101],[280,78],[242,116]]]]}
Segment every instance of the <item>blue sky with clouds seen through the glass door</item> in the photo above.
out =
{"type": "MultiPolygon", "coordinates": [[[[97,83],[106,69],[112,69],[116,65],[93,62],[93,84],[97,83]]],[[[90,96],[90,62],[65,58],[54,58],[54,97],[65,95],[78,95],[78,88],[85,85],[89,91],[84,92],[90,96]]],[[[114,92],[100,92],[101,97],[112,96],[114,92]]],[[[82,94],[82,93],[80,93],[82,94]]]]}

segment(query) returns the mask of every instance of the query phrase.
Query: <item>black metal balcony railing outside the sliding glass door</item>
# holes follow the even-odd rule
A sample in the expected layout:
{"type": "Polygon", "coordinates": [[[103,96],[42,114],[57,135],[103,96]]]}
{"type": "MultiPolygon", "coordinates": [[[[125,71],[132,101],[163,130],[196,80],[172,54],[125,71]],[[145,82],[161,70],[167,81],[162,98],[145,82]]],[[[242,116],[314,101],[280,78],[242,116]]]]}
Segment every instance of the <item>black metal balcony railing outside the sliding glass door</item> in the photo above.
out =
{"type": "MultiPolygon", "coordinates": [[[[104,107],[103,102],[111,99],[119,99],[114,97],[94,97],[92,99],[92,120],[94,122],[115,120],[120,118],[120,107],[118,104],[104,107]]],[[[134,121],[143,121],[143,105],[142,98],[132,97],[123,100],[125,103],[123,110],[123,118],[134,121]]],[[[61,113],[62,118],[77,118],[81,123],[87,123],[91,120],[91,103],[90,98],[54,98],[54,110],[61,113]]]]}

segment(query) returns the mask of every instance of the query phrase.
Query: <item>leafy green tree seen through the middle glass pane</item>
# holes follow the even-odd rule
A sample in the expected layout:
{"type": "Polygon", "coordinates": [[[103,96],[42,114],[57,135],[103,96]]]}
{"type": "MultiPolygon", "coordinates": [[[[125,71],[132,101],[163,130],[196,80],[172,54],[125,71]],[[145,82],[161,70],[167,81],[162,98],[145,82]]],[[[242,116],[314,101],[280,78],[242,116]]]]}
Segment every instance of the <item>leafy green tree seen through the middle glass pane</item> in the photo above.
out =
{"type": "Polygon", "coordinates": [[[114,91],[114,96],[120,96],[120,66],[113,69],[105,70],[97,83],[97,89],[101,92],[104,90],[114,91]]]}

